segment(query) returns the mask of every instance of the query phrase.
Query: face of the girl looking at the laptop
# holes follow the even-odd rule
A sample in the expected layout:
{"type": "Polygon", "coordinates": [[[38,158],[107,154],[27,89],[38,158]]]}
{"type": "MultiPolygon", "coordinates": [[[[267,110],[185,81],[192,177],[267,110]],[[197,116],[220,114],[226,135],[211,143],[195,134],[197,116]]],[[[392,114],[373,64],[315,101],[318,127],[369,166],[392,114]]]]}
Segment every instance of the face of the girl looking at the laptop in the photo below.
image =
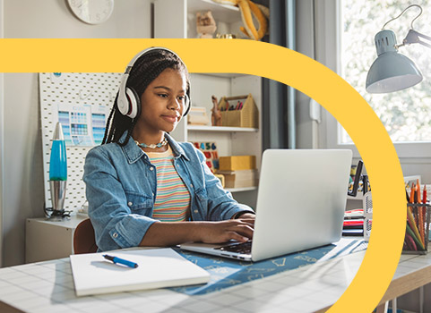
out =
{"type": "Polygon", "coordinates": [[[141,97],[142,131],[148,134],[173,131],[185,112],[185,74],[166,69],[151,81],[141,97]]]}

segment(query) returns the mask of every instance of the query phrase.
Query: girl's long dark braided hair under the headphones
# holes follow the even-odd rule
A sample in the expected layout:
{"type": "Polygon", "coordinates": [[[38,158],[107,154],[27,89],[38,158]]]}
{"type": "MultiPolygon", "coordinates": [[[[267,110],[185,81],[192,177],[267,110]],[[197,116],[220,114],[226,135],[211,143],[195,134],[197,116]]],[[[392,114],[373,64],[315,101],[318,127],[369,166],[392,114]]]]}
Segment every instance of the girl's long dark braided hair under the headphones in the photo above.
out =
{"type": "MultiPolygon", "coordinates": [[[[185,63],[183,63],[174,53],[162,48],[144,53],[134,62],[132,70],[129,73],[129,77],[127,78],[127,87],[134,89],[136,95],[141,98],[145,89],[147,89],[148,85],[151,84],[151,81],[155,80],[161,72],[168,68],[185,73],[188,91],[190,89],[190,79],[185,63]]],[[[117,106],[117,99],[118,93],[116,94],[114,106],[112,107],[108,117],[102,145],[116,142],[120,146],[124,147],[134,131],[134,125],[141,114],[141,107],[138,107],[136,117],[130,118],[120,113],[117,106]],[[123,142],[120,142],[119,140],[125,131],[127,131],[127,136],[123,142]]]]}

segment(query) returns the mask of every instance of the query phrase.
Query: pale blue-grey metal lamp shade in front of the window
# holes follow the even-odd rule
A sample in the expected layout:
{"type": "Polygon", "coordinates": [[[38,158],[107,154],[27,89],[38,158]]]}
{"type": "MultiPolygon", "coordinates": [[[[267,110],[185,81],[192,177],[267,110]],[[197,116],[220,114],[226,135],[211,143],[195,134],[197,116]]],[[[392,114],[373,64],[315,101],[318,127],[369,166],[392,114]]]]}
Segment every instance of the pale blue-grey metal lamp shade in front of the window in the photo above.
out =
{"type": "Polygon", "coordinates": [[[381,30],[375,35],[377,58],[366,76],[366,91],[386,93],[407,89],[422,81],[416,64],[398,53],[395,34],[381,30]]]}

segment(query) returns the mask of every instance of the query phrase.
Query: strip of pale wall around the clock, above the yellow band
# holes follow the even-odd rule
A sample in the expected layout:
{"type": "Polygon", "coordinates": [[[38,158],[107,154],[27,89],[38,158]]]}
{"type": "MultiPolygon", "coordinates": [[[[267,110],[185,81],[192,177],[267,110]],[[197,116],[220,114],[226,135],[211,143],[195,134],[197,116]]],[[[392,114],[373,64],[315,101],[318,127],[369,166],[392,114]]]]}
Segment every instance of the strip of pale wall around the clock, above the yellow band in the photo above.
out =
{"type": "Polygon", "coordinates": [[[78,21],[65,0],[4,0],[4,38],[150,38],[151,1],[116,1],[99,25],[78,21]]]}

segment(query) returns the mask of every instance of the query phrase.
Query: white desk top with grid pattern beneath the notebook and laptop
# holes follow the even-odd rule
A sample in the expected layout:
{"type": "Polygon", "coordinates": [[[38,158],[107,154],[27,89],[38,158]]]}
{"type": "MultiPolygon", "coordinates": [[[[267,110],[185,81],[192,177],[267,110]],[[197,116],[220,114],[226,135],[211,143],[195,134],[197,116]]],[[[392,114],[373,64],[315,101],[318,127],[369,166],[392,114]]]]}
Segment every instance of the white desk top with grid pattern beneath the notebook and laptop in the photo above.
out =
{"type": "MultiPolygon", "coordinates": [[[[0,269],[2,312],[313,312],[330,307],[356,275],[365,251],[332,258],[243,283],[220,292],[189,296],[166,289],[77,298],[68,258],[0,269]]],[[[405,287],[412,275],[431,281],[431,255],[401,256],[392,284],[405,287]]],[[[385,295],[390,300],[416,284],[385,295]]],[[[383,301],[384,301],[383,300],[383,301]]]]}

